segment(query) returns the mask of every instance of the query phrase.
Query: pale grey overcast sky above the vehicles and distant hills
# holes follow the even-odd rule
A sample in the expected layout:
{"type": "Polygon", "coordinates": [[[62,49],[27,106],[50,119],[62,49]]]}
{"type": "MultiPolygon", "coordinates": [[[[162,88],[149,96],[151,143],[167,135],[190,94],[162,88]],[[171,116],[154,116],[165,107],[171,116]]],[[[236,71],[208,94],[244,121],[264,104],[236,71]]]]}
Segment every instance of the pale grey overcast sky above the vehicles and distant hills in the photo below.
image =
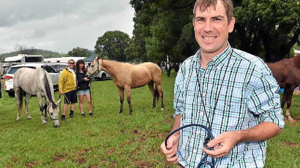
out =
{"type": "Polygon", "coordinates": [[[98,37],[120,30],[132,37],[130,0],[0,0],[0,54],[16,44],[59,53],[94,50],[98,37]]]}

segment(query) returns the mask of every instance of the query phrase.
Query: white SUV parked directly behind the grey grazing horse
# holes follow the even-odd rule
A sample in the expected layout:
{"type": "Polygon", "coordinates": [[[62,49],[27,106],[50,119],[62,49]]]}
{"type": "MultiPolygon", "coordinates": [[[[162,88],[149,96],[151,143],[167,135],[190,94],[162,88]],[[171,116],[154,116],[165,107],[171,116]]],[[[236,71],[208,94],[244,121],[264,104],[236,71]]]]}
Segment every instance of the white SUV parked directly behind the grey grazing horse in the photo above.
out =
{"type": "Polygon", "coordinates": [[[59,73],[59,71],[56,71],[49,64],[18,64],[18,65],[11,66],[4,77],[4,80],[5,80],[4,89],[8,93],[8,95],[10,95],[10,96],[15,95],[15,92],[13,90],[13,75],[18,69],[20,69],[22,67],[28,67],[28,68],[32,68],[32,69],[37,69],[38,67],[43,68],[44,70],[46,70],[49,73],[49,75],[52,79],[53,88],[58,89],[58,80],[59,80],[61,73],[59,73]]]}

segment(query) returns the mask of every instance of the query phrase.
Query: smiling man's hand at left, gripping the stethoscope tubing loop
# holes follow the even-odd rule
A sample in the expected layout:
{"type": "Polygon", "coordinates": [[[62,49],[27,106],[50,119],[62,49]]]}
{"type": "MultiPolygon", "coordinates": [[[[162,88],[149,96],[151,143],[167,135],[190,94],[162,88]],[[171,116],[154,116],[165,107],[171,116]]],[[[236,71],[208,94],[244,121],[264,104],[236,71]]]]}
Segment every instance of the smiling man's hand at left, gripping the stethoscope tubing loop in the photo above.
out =
{"type": "Polygon", "coordinates": [[[161,144],[161,151],[166,155],[167,161],[177,164],[178,156],[176,156],[176,152],[178,149],[179,137],[171,135],[167,141],[167,148],[165,146],[165,141],[161,144]]]}

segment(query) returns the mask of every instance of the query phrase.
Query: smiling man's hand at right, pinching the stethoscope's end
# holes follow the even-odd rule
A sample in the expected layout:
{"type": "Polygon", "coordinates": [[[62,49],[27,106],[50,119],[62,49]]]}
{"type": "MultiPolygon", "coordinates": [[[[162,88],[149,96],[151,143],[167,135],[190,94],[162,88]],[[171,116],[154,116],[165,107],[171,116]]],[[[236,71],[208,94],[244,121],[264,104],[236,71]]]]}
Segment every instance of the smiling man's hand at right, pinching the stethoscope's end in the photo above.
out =
{"type": "Polygon", "coordinates": [[[202,148],[202,150],[208,155],[213,155],[215,158],[226,156],[235,144],[239,142],[239,137],[238,131],[224,132],[208,142],[207,146],[214,147],[214,150],[208,150],[205,148],[202,148]],[[219,144],[219,146],[217,146],[217,144],[219,144]]]}

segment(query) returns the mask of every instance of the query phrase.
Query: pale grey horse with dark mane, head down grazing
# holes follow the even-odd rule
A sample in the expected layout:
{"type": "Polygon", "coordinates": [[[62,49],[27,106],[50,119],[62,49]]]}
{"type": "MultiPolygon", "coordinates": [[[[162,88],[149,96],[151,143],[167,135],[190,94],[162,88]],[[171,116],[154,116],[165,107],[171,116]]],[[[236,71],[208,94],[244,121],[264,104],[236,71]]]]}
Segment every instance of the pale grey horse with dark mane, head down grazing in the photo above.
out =
{"type": "Polygon", "coordinates": [[[57,104],[60,99],[54,102],[54,89],[50,75],[42,68],[20,68],[16,71],[13,77],[13,90],[15,91],[15,97],[17,102],[17,119],[20,120],[19,112],[22,112],[23,108],[23,91],[26,92],[25,106],[26,115],[28,119],[32,117],[28,112],[29,98],[31,95],[36,95],[41,110],[41,119],[43,124],[47,124],[47,106],[49,105],[48,113],[53,121],[54,127],[59,127],[58,115],[59,108],[57,104]],[[42,96],[45,97],[45,105],[43,105],[42,96]]]}

